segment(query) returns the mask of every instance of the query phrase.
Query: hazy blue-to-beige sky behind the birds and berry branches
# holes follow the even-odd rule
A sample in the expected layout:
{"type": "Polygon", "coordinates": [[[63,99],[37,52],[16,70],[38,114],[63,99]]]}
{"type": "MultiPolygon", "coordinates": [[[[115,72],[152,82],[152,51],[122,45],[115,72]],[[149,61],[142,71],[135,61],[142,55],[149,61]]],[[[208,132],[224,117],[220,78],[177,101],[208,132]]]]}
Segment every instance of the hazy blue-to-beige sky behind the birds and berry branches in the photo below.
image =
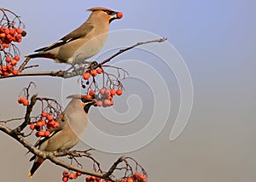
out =
{"type": "MultiPolygon", "coordinates": [[[[21,56],[78,27],[90,14],[85,9],[96,6],[124,14],[122,20],[111,23],[108,43],[96,60],[133,43],[168,38],[166,43],[148,44],[113,60],[113,65],[130,72],[123,81],[125,93],[115,98],[113,108],[90,109],[88,135],[76,147],[95,147],[94,155],[102,168],[108,169],[119,156],[126,155],[147,170],[149,181],[255,181],[255,1],[15,0],[0,4],[19,14],[26,25],[27,36],[19,45],[21,56]],[[187,108],[189,119],[181,115],[179,123],[187,124],[177,139],[170,140],[183,108],[187,108]],[[108,134],[105,140],[101,134],[108,134]]],[[[52,60],[32,61],[40,65],[35,71],[66,68],[52,60]]],[[[1,80],[0,102],[4,104],[0,119],[24,114],[16,100],[28,82],[36,82],[33,92],[60,100],[65,106],[68,100],[63,98],[77,91],[77,80],[1,80]]],[[[1,178],[27,181],[31,155],[25,156],[26,149],[6,134],[0,136],[1,178]]],[[[60,181],[62,170],[45,162],[32,181],[60,181]]]]}

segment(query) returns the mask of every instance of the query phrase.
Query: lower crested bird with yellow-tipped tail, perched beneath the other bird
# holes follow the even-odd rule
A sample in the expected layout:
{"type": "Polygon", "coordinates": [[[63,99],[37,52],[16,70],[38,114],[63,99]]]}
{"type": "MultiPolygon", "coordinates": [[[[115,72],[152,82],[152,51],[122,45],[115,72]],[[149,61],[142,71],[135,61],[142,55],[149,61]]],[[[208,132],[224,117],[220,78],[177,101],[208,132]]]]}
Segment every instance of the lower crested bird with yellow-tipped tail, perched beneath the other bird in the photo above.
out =
{"type": "MultiPolygon", "coordinates": [[[[79,143],[84,134],[84,130],[88,122],[88,111],[91,105],[95,104],[95,100],[88,99],[85,95],[70,95],[72,98],[65,110],[58,118],[60,126],[51,130],[49,137],[41,137],[35,144],[41,151],[63,151],[69,150],[79,143]]],[[[28,173],[28,177],[32,178],[33,174],[44,162],[40,156],[32,156],[30,162],[33,161],[32,168],[28,173]]]]}

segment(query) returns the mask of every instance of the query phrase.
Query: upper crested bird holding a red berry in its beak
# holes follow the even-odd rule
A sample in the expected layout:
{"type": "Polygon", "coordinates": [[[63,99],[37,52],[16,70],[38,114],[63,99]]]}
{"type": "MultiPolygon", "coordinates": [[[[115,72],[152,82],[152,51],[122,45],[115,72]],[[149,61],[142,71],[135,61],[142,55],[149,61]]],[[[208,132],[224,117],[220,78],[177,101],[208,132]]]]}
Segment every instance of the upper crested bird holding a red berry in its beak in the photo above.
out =
{"type": "Polygon", "coordinates": [[[56,43],[38,48],[35,54],[26,55],[26,60],[48,58],[55,60],[56,63],[76,64],[97,54],[107,41],[109,24],[113,20],[121,19],[123,14],[102,7],[87,11],[91,14],[84,24],[56,43]]]}

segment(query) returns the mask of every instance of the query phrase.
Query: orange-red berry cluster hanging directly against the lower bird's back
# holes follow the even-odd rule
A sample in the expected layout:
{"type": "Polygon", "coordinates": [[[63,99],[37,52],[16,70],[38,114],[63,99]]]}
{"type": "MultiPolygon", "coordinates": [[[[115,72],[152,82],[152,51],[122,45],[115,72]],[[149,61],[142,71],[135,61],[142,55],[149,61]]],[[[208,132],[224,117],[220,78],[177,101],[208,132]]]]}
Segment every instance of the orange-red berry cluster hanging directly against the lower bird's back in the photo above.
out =
{"type": "Polygon", "coordinates": [[[49,137],[49,129],[59,127],[59,122],[57,122],[56,120],[57,119],[55,119],[55,117],[52,114],[43,111],[41,113],[40,118],[37,121],[32,122],[30,124],[30,129],[37,130],[37,137],[49,137]]]}

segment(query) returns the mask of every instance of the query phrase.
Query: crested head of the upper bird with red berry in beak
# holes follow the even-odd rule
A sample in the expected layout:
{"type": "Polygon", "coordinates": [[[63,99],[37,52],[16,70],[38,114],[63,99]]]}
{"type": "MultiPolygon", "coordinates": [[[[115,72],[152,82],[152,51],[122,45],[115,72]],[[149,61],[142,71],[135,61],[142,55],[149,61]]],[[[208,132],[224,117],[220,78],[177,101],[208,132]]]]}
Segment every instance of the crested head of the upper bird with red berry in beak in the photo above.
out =
{"type": "Polygon", "coordinates": [[[92,11],[92,14],[100,14],[102,17],[105,17],[109,23],[111,23],[113,20],[123,18],[123,14],[121,12],[116,12],[112,9],[102,7],[87,9],[87,11],[92,11]]]}

